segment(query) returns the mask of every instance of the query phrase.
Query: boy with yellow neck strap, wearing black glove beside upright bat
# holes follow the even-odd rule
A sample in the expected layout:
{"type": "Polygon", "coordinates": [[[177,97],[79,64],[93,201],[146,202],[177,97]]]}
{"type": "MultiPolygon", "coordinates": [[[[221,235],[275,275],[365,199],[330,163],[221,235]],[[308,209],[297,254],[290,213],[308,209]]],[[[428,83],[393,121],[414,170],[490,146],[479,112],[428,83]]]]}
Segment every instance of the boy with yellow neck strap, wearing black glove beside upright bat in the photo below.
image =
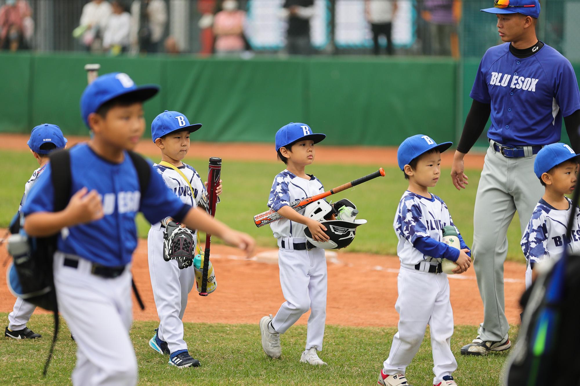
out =
{"type": "MultiPolygon", "coordinates": [[[[161,165],[155,163],[165,185],[183,203],[207,210],[207,196],[200,174],[181,160],[190,145],[190,133],[201,128],[200,123],[190,125],[187,117],[177,111],[162,112],[151,123],[151,138],[161,150],[161,165]]],[[[222,193],[221,180],[216,188],[222,193]]],[[[197,367],[200,362],[191,358],[183,340],[183,314],[187,306],[187,295],[195,282],[193,267],[180,267],[177,260],[163,258],[163,234],[169,219],[151,225],[147,237],[149,273],[155,306],[160,323],[149,345],[160,354],[170,354],[169,364],[180,368],[197,367]]],[[[197,231],[195,231],[197,235],[197,231]]]]}

